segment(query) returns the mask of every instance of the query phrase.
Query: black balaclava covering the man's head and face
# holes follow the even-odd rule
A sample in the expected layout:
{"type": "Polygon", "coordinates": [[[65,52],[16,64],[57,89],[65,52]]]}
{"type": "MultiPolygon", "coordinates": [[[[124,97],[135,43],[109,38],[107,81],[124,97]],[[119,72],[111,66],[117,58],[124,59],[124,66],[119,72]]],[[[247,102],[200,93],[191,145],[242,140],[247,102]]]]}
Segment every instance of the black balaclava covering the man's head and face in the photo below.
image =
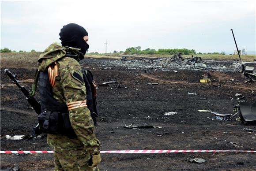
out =
{"type": "Polygon", "coordinates": [[[83,55],[89,48],[89,45],[83,39],[84,36],[88,36],[87,31],[75,23],[67,24],[60,30],[61,45],[80,48],[79,52],[83,53],[83,55]]]}

